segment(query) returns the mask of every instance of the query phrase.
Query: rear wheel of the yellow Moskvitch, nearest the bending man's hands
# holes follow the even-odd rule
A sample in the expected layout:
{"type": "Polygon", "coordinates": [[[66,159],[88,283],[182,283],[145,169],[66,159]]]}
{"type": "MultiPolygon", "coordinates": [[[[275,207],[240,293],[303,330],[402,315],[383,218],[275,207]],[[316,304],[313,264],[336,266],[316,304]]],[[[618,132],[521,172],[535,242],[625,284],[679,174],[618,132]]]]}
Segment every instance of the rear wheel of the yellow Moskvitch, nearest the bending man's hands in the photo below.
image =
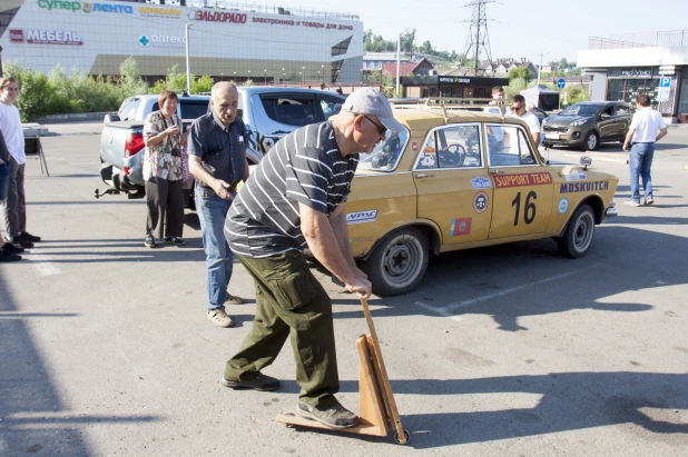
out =
{"type": "Polygon", "coordinates": [[[427,236],[414,227],[387,235],[362,265],[373,284],[373,292],[381,297],[413,290],[427,269],[427,236]]]}

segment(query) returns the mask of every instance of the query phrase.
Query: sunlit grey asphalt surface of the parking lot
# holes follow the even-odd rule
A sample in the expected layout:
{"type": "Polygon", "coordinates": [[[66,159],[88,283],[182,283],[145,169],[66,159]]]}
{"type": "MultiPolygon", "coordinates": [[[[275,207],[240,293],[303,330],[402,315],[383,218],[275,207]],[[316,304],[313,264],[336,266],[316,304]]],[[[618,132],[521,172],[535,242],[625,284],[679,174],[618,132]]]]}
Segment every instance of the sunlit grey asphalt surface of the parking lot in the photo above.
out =
{"type": "MultiPolygon", "coordinates": [[[[411,433],[399,446],[278,425],[298,394],[289,345],[265,370],[279,391],[223,387],[255,312],[249,276],[237,264],[237,326],[214,327],[196,215],[187,246],[145,248],[142,200],[94,198],[101,125],[49,128],[51,176],[30,159],[26,182],[28,229],[43,241],[0,266],[0,455],[688,454],[688,129],[658,143],[652,207],[620,205],[620,143],[593,155],[620,178],[619,216],[587,257],[564,259],[549,239],[453,252],[432,258],[413,292],[371,299],[411,433]]],[[[357,410],[363,312],[316,276],[333,297],[340,399],[357,410]]]]}

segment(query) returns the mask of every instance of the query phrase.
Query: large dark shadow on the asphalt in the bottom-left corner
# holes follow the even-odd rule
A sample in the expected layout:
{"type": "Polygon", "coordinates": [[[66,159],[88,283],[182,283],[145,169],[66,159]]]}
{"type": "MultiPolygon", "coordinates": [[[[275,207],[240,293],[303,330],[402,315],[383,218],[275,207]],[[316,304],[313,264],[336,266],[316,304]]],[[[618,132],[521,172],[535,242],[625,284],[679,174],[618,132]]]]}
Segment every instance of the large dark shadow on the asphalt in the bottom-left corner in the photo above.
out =
{"type": "Polygon", "coordinates": [[[49,376],[31,338],[28,319],[71,318],[75,314],[20,312],[0,276],[0,454],[94,455],[85,439],[89,425],[160,420],[160,417],[75,415],[49,376]]]}

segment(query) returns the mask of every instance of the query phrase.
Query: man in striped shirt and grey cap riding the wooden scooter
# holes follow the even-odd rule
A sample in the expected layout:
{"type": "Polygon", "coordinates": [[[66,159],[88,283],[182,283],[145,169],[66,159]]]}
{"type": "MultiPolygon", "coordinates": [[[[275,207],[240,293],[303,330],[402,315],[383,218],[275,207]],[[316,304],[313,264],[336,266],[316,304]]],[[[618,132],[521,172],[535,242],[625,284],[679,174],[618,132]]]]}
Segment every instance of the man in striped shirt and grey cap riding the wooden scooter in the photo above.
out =
{"type": "Polygon", "coordinates": [[[261,374],[291,336],[301,395],[296,413],[333,428],[358,418],[334,397],[340,389],[332,301],[302,251],[315,258],[361,298],[371,282],[348,245],[345,202],[358,152],[372,152],[389,129],[403,129],[386,98],[371,88],[353,92],[327,122],[303,127],[263,158],[225,221],[230,249],[254,277],[256,317],[223,384],[275,390],[261,374]]]}

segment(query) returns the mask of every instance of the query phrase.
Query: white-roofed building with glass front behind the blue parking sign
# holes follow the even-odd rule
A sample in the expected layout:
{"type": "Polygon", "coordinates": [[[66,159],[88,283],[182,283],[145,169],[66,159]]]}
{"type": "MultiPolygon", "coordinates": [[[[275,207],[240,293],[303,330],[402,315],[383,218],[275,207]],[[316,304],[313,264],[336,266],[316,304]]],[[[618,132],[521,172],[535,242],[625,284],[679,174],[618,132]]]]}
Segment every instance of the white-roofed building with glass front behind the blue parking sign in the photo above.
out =
{"type": "Polygon", "coordinates": [[[592,37],[578,52],[591,100],[635,102],[639,93],[669,122],[688,122],[688,30],[592,37]]]}

